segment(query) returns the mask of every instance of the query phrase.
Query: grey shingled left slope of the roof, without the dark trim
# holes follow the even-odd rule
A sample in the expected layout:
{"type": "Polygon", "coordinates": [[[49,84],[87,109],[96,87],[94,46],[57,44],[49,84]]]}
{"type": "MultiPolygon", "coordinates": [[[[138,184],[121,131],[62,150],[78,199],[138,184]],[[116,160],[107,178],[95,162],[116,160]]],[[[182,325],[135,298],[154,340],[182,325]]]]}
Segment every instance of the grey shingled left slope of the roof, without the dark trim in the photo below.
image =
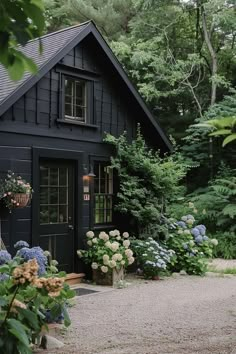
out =
{"type": "MultiPolygon", "coordinates": [[[[85,22],[81,25],[65,28],[41,37],[43,45],[42,54],[39,53],[39,39],[34,39],[28,42],[23,47],[22,51],[25,55],[34,60],[40,70],[66,44],[72,41],[88,25],[88,23],[89,22],[85,22]]],[[[12,81],[6,69],[0,64],[0,105],[30,77],[32,77],[32,74],[26,72],[21,80],[12,81]]]]}

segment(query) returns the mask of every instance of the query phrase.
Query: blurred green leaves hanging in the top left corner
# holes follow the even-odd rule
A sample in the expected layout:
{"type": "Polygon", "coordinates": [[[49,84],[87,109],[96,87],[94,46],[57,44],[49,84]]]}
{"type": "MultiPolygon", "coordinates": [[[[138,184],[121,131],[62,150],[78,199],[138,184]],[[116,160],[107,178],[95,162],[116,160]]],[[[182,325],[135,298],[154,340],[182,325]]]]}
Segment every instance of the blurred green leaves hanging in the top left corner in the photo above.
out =
{"type": "MultiPolygon", "coordinates": [[[[36,64],[22,53],[18,44],[24,46],[30,39],[43,34],[42,0],[2,0],[0,18],[0,63],[13,80],[21,79],[25,70],[35,74],[36,64]]],[[[41,46],[39,48],[42,50],[41,46]]]]}

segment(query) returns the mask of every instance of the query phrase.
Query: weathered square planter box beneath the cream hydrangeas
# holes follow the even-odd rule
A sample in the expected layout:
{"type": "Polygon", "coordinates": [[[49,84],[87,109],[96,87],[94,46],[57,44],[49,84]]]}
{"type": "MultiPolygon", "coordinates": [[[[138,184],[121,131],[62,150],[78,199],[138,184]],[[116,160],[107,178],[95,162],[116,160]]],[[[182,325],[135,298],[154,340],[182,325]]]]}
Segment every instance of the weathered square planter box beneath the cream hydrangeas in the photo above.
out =
{"type": "Polygon", "coordinates": [[[120,280],[124,280],[124,268],[113,268],[107,273],[103,273],[100,269],[93,269],[93,281],[97,285],[113,286],[120,280]]]}

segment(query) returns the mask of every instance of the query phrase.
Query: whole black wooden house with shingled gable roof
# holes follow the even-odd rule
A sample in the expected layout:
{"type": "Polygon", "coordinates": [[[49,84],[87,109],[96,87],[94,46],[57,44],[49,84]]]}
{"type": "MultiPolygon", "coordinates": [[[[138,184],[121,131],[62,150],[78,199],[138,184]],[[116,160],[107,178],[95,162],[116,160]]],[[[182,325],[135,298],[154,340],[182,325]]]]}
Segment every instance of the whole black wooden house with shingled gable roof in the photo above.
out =
{"type": "Polygon", "coordinates": [[[70,273],[88,229],[119,228],[104,132],[132,139],[139,122],[153,146],[170,143],[93,22],[41,41],[42,55],[38,39],[23,49],[37,75],[13,82],[0,66],[0,175],[12,170],[34,189],[28,207],[0,209],[0,231],[10,252],[18,240],[40,245],[70,273]]]}

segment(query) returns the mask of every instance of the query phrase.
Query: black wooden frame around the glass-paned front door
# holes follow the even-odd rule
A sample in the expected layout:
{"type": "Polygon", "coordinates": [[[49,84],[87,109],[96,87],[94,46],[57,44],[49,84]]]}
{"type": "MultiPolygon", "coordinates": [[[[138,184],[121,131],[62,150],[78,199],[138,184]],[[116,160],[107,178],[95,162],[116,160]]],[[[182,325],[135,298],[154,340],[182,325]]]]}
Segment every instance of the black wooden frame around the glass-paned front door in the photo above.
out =
{"type": "MultiPolygon", "coordinates": [[[[40,237],[40,200],[39,200],[39,168],[40,159],[48,160],[66,160],[74,164],[74,247],[75,250],[82,245],[82,223],[83,223],[83,162],[84,153],[75,150],[61,150],[50,148],[32,148],[32,187],[35,191],[32,198],[32,246],[39,245],[40,237]]],[[[78,257],[74,258],[74,271],[78,269],[78,257]]]]}

